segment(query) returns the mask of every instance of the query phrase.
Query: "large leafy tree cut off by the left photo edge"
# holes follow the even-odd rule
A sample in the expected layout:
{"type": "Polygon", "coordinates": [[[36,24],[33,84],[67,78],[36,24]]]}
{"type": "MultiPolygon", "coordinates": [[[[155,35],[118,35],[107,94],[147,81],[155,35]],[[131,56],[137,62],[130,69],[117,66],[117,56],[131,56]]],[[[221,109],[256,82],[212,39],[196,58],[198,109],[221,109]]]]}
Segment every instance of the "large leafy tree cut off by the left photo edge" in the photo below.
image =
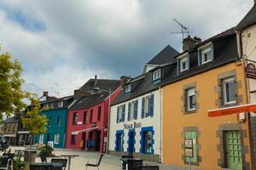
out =
{"type": "Polygon", "coordinates": [[[0,54],[0,119],[3,115],[18,114],[26,107],[24,99],[30,94],[22,90],[20,62],[11,60],[8,53],[0,54]]]}

